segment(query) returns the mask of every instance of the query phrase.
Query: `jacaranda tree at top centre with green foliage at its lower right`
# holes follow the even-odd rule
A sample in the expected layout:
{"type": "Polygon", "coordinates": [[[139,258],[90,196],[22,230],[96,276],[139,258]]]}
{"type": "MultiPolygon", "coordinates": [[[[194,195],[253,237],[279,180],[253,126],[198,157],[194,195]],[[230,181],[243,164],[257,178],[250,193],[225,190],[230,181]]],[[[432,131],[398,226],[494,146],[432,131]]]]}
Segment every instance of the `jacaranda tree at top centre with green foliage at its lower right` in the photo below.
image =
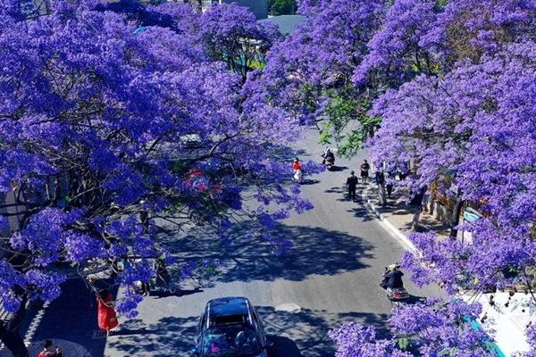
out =
{"type": "Polygon", "coordinates": [[[356,87],[352,76],[380,27],[383,3],[302,2],[306,22],[267,57],[261,80],[272,102],[302,122],[322,126],[323,143],[343,142],[339,154],[354,153],[376,124],[367,115],[373,94],[366,86],[356,87]],[[345,132],[348,123],[356,121],[362,126],[345,132]]]}

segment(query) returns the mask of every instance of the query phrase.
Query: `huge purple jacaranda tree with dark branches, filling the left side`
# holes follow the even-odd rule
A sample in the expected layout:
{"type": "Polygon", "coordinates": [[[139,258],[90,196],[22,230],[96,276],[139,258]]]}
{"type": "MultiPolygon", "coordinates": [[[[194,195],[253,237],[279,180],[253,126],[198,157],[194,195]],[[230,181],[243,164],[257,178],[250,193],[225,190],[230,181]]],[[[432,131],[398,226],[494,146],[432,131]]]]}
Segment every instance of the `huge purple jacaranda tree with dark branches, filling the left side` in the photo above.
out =
{"type": "Polygon", "coordinates": [[[134,284],[155,276],[149,261],[172,262],[157,220],[222,236],[233,217],[255,220],[257,243],[277,252],[286,243],[263,227],[310,208],[282,187],[288,165],[269,159],[293,122],[244,104],[241,77],[188,30],[195,12],[152,7],[157,21],[138,28],[98,1],[49,3],[0,4],[0,191],[14,194],[0,220],[16,206],[20,221],[1,245],[0,297],[13,319],[0,340],[17,357],[28,355],[18,332],[27,303],[56,298],[66,274],[112,272],[126,288],[117,310],[133,316],[134,284]],[[242,204],[246,187],[259,208],[242,204]]]}

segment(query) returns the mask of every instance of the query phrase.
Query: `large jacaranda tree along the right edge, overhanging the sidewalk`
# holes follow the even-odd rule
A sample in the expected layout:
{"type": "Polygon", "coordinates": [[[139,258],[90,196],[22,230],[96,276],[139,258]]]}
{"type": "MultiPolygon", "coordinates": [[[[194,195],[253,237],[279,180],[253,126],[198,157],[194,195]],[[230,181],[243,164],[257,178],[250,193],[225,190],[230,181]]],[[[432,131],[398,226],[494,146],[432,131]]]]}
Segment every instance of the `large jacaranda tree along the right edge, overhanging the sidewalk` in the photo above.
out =
{"type": "MultiPolygon", "coordinates": [[[[417,162],[407,182],[414,192],[435,182],[458,203],[480,202],[485,213],[465,226],[470,241],[410,237],[420,254],[406,253],[401,262],[417,285],[439,283],[455,295],[522,284],[532,294],[526,270],[536,264],[535,10],[517,1],[397,1],[355,72],[356,83],[393,87],[371,111],[382,118],[370,142],[373,160],[417,162]],[[452,182],[441,186],[445,173],[452,182]]],[[[399,317],[403,311],[395,311],[399,317]]],[[[448,331],[443,323],[438,328],[448,331]]],[[[421,346],[418,354],[426,356],[495,355],[480,341],[485,351],[464,350],[457,340],[433,350],[433,340],[423,348],[420,338],[408,347],[421,346]]]]}

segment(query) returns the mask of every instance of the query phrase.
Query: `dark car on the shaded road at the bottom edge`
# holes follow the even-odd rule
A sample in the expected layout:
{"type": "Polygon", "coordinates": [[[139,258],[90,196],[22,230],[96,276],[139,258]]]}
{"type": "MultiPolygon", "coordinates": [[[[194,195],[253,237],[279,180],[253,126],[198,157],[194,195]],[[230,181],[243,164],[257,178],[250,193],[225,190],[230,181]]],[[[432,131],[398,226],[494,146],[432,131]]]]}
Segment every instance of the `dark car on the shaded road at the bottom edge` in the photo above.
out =
{"type": "Polygon", "coordinates": [[[267,357],[263,320],[245,297],[209,301],[199,320],[196,357],[267,357]]]}

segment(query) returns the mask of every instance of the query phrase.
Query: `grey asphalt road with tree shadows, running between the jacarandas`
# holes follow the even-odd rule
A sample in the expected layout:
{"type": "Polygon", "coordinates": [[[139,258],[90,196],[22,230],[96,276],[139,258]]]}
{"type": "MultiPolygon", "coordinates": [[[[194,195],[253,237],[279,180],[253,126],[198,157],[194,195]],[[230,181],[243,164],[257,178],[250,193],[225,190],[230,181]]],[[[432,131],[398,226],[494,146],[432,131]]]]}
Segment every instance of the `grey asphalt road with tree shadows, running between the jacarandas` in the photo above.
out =
{"type": "MultiPolygon", "coordinates": [[[[300,141],[302,158],[321,160],[317,135],[308,131],[300,141]]],[[[363,154],[352,160],[338,157],[338,170],[307,178],[303,194],[314,210],[276,228],[294,242],[289,253],[275,257],[247,237],[237,238],[222,276],[191,282],[176,295],[147,298],[138,319],[124,322],[108,338],[105,356],[188,356],[205,303],[225,295],[247,296],[257,306],[275,343],[273,357],[332,356],[335,345],[327,333],[347,321],[372,324],[385,334],[390,303],[380,277],[403,248],[365,209],[359,193],[357,203],[346,200],[342,185],[363,159],[363,154]]],[[[180,242],[185,258],[218,254],[197,239],[180,242]]],[[[409,282],[407,287],[412,295],[431,294],[409,282]]]]}

